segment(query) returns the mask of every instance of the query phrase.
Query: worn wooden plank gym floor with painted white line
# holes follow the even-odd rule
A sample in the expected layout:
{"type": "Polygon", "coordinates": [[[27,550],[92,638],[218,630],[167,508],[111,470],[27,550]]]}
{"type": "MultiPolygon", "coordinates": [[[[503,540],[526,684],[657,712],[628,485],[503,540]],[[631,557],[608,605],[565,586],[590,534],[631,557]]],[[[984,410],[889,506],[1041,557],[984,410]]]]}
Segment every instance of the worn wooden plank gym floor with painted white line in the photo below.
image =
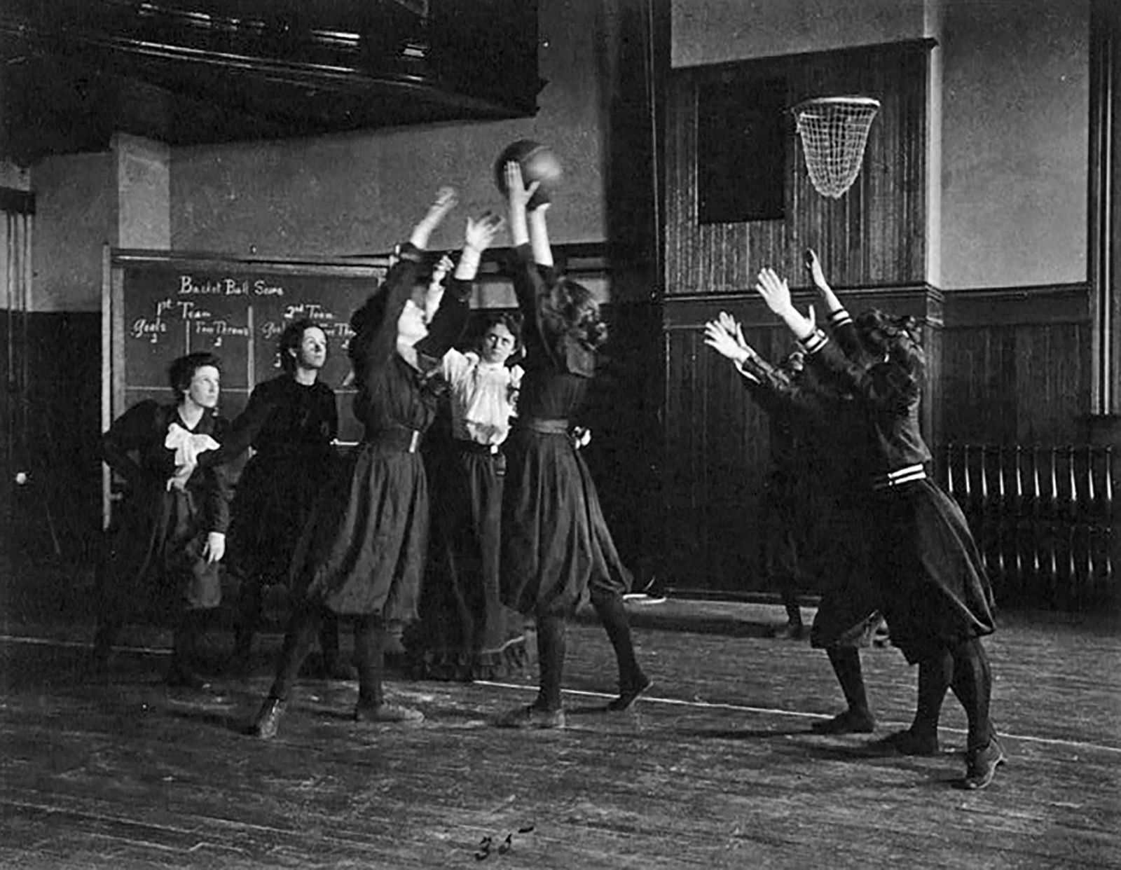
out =
{"type": "MultiPolygon", "coordinates": [[[[263,742],[243,729],[278,635],[259,640],[252,677],[207,695],[166,688],[167,632],[136,627],[110,683],[86,685],[84,581],[17,574],[0,640],[2,867],[1121,867],[1117,614],[1003,614],[988,649],[1010,758],[966,793],[952,696],[939,757],[808,733],[840,692],[808,641],[763,636],[776,605],[629,605],[656,685],[621,714],[602,712],[606,637],[581,619],[564,731],[492,726],[531,700],[532,674],[393,674],[390,695],[423,724],[356,725],[355,684],[304,681],[263,742]]],[[[215,657],[229,640],[212,637],[215,657]]],[[[864,663],[877,735],[905,726],[915,672],[891,648],[864,663]]]]}

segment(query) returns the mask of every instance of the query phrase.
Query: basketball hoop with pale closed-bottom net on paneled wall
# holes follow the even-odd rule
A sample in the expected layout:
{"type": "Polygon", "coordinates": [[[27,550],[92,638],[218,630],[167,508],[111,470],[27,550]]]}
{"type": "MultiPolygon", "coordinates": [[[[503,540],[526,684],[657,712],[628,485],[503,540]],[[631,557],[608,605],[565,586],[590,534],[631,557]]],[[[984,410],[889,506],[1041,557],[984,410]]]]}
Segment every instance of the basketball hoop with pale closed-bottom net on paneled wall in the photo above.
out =
{"type": "Polygon", "coordinates": [[[870,96],[821,96],[798,103],[797,119],[809,181],[822,196],[839,198],[860,174],[868,130],[880,109],[870,96]]]}

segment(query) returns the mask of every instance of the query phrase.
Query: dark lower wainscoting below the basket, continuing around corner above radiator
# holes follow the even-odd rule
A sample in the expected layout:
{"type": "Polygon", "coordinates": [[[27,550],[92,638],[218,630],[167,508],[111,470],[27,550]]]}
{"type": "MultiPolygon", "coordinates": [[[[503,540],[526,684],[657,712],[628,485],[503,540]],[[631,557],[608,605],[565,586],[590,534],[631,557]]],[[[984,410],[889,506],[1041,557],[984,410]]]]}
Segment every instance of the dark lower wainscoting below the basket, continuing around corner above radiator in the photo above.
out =
{"type": "MultiPolygon", "coordinates": [[[[1090,313],[1085,285],[942,293],[925,286],[842,293],[853,312],[878,305],[924,324],[924,435],[944,476],[948,443],[1086,441],[1090,313]]],[[[799,300],[805,305],[809,297],[799,300]]],[[[770,468],[768,422],[731,363],[704,345],[720,311],[771,360],[793,346],[754,297],[708,294],[665,306],[667,576],[679,587],[759,592],[760,507],[770,468]]],[[[1006,602],[1011,603],[1011,602],[1006,602]]]]}

